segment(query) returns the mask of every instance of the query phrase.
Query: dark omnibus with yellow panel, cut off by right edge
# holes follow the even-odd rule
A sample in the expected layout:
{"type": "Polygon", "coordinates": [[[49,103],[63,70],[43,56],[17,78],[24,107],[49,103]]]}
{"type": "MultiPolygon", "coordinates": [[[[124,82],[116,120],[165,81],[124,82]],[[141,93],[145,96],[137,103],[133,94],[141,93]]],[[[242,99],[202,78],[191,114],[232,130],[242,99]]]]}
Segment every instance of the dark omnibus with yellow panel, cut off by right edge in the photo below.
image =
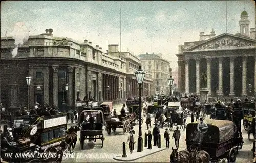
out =
{"type": "Polygon", "coordinates": [[[255,102],[245,102],[243,105],[244,111],[244,118],[243,118],[243,125],[245,131],[248,133],[248,139],[250,139],[250,134],[253,132],[252,123],[253,118],[255,117],[255,102]]]}

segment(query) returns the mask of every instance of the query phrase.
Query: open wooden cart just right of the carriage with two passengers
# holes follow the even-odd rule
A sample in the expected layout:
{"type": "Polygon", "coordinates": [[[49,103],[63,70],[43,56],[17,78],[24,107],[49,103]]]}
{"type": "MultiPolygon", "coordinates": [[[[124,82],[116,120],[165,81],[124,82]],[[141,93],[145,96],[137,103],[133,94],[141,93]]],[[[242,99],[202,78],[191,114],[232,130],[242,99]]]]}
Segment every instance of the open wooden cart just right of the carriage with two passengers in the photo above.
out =
{"type": "Polygon", "coordinates": [[[111,134],[111,129],[113,132],[116,131],[116,128],[122,128],[123,134],[126,132],[129,132],[131,129],[131,124],[136,119],[135,114],[129,114],[125,115],[124,117],[121,117],[121,115],[118,115],[118,118],[109,118],[106,120],[106,126],[105,130],[108,134],[111,134]]]}

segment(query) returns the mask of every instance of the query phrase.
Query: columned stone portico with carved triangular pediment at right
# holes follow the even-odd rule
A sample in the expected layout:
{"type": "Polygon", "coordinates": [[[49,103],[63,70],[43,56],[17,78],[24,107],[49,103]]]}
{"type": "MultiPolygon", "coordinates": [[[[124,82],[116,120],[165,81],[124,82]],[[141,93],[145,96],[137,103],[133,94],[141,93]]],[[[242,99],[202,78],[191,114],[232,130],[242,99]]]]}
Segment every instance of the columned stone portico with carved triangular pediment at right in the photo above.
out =
{"type": "Polygon", "coordinates": [[[210,97],[252,96],[256,88],[255,45],[253,39],[225,33],[176,54],[180,90],[199,94],[201,76],[206,72],[210,97]],[[229,45],[218,45],[222,40],[229,45]]]}

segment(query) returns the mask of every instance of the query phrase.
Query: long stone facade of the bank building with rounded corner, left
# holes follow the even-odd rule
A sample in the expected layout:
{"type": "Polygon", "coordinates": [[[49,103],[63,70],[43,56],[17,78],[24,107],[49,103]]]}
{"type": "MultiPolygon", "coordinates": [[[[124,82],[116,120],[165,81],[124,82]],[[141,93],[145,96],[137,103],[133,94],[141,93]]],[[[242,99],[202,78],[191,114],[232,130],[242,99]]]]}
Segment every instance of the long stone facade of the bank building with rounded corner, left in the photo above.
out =
{"type": "MultiPolygon", "coordinates": [[[[103,53],[101,47],[88,40],[78,43],[41,34],[29,36],[14,58],[13,48],[11,37],[1,37],[0,101],[5,107],[38,102],[63,108],[75,107],[76,101],[84,97],[113,102],[127,98],[129,59],[103,53]],[[29,86],[27,76],[32,77],[29,86]]],[[[136,60],[137,65],[139,62],[136,60]]],[[[151,87],[152,79],[145,79],[145,84],[151,87]]]]}

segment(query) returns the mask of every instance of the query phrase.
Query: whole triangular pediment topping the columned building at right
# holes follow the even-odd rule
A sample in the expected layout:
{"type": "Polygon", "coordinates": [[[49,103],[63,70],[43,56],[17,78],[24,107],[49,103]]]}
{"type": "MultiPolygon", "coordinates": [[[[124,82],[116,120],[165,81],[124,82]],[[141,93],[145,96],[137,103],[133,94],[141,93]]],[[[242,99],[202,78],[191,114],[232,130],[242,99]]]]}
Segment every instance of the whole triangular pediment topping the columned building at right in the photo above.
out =
{"type": "Polygon", "coordinates": [[[184,52],[205,51],[205,50],[221,50],[236,49],[245,47],[256,47],[256,40],[246,38],[239,35],[224,33],[214,38],[208,39],[198,45],[192,46],[184,52]]]}

